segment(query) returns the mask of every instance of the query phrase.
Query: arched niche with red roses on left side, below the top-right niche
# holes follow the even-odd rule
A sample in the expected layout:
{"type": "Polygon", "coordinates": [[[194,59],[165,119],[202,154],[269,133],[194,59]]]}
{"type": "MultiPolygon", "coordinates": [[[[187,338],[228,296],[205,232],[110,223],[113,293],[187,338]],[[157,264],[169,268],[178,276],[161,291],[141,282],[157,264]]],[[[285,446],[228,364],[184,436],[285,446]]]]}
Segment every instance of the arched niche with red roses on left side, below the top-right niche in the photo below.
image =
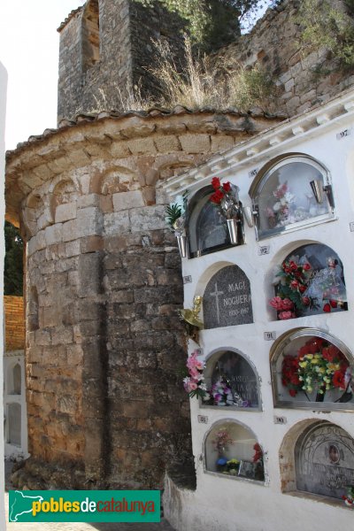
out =
{"type": "Polygon", "coordinates": [[[342,260],[322,243],[304,243],[276,267],[273,319],[348,310],[342,260]]]}

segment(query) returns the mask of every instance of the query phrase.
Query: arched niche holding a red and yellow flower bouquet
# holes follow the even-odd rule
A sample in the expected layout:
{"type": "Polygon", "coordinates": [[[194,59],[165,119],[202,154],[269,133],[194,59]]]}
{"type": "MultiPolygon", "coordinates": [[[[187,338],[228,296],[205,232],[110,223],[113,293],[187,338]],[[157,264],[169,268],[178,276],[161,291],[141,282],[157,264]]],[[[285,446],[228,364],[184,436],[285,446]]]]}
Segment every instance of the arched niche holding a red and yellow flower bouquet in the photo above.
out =
{"type": "Polygon", "coordinates": [[[275,407],[354,409],[354,359],[334,335],[296,328],[274,342],[271,371],[275,407]]]}

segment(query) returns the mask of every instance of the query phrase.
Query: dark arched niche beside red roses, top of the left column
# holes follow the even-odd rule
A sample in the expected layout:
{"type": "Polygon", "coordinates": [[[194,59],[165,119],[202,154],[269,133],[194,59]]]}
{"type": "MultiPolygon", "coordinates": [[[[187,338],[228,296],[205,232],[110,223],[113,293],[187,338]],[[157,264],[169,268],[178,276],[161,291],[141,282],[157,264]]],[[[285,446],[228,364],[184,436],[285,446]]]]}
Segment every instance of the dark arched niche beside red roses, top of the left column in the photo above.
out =
{"type": "Polygon", "coordinates": [[[214,189],[207,186],[196,192],[189,202],[187,235],[189,258],[196,258],[231,247],[226,219],[209,201],[214,189]]]}

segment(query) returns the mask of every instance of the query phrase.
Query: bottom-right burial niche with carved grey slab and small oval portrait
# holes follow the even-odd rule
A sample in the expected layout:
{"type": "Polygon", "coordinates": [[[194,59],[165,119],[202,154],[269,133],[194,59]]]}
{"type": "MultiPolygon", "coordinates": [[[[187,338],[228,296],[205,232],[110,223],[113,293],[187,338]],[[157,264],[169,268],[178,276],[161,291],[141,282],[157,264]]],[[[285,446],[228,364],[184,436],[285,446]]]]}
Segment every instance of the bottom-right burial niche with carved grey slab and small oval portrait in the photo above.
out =
{"type": "Polygon", "coordinates": [[[295,446],[296,489],[342,499],[354,485],[354,439],[327,421],[308,427],[295,446]]]}

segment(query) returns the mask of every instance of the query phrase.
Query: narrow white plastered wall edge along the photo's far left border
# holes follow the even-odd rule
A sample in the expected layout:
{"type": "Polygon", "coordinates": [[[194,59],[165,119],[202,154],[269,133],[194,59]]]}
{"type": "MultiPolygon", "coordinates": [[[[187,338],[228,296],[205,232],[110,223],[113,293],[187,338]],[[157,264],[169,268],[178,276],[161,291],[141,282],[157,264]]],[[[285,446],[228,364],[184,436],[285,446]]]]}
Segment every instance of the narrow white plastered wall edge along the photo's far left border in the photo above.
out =
{"type": "MultiPolygon", "coordinates": [[[[4,131],[5,131],[5,112],[6,112],[6,87],[7,72],[4,65],[0,62],[0,219],[4,219],[4,131]]],[[[0,233],[0,322],[4,322],[4,231],[0,233]]],[[[0,342],[3,345],[0,355],[0,529],[5,529],[5,506],[4,506],[4,373],[3,373],[3,355],[4,355],[4,329],[0,327],[0,342]]]]}

